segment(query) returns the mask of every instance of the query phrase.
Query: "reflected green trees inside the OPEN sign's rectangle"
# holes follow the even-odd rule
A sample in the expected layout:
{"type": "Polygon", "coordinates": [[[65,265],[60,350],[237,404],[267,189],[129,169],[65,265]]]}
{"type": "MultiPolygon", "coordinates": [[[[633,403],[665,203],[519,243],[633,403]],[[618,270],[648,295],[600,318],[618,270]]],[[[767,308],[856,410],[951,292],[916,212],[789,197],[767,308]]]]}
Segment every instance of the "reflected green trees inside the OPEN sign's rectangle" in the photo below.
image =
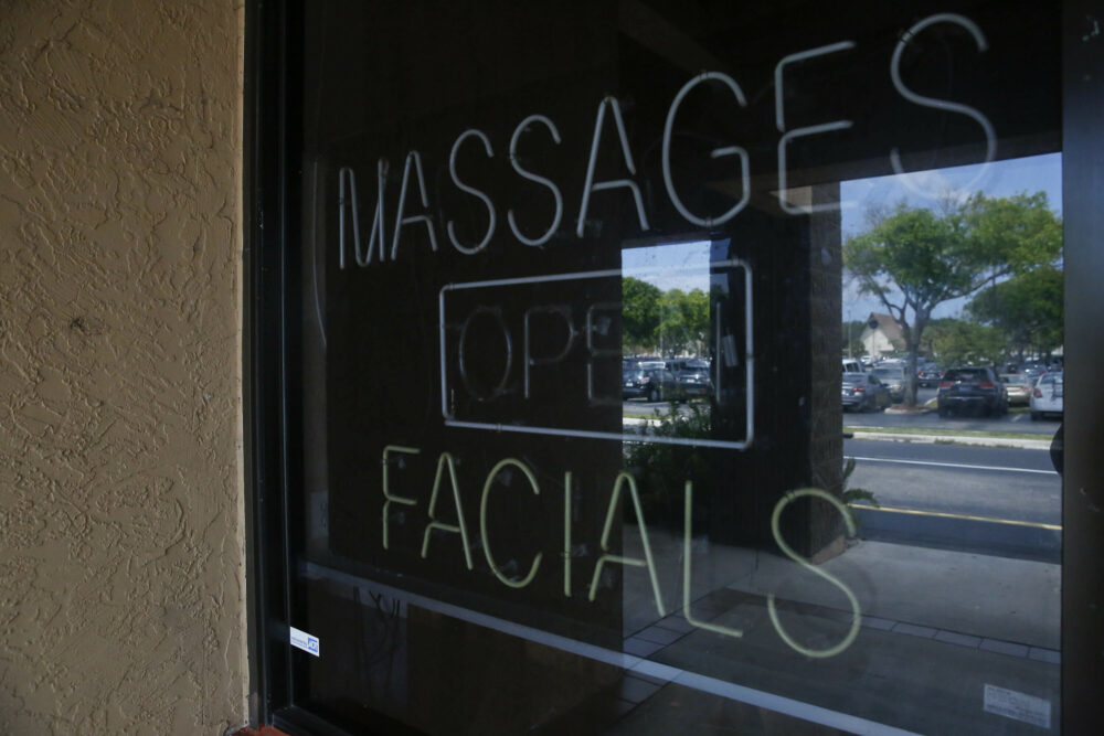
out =
{"type": "Polygon", "coordinates": [[[661,291],[625,277],[622,302],[626,353],[702,353],[709,337],[709,298],[701,289],[661,291]]]}

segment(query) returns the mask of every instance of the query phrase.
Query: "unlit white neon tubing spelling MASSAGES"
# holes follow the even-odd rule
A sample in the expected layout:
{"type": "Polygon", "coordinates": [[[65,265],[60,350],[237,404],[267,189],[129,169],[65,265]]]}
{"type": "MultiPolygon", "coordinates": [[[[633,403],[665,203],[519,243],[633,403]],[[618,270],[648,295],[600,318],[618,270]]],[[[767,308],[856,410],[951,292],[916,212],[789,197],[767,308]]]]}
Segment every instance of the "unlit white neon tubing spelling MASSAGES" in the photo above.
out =
{"type": "MultiPolygon", "coordinates": [[[[890,77],[893,82],[893,87],[898,94],[901,95],[901,97],[910,103],[949,114],[963,115],[976,121],[985,136],[986,150],[984,162],[985,164],[988,164],[995,159],[997,153],[997,136],[992,124],[984,114],[960,103],[953,103],[949,100],[920,95],[910,89],[901,78],[901,58],[904,50],[910,43],[916,43],[917,36],[922,35],[925,30],[940,23],[949,23],[965,29],[976,43],[979,53],[983,53],[988,49],[988,42],[986,41],[985,34],[970,19],[957,13],[937,13],[930,15],[905,31],[905,33],[902,34],[901,39],[898,41],[889,62],[890,77]]],[[[841,205],[794,204],[788,186],[787,150],[797,139],[837,135],[846,131],[853,126],[853,120],[826,120],[816,125],[787,128],[784,103],[786,71],[797,64],[815,63],[815,61],[819,57],[846,53],[856,49],[857,45],[858,44],[854,41],[850,40],[838,41],[836,43],[788,54],[779,60],[775,65],[774,117],[775,126],[779,132],[779,138],[776,145],[776,175],[778,182],[777,199],[779,206],[789,214],[809,214],[819,212],[824,209],[835,209],[837,206],[846,206],[849,204],[847,202],[841,205]]],[[[747,205],[751,196],[751,163],[747,149],[742,146],[720,146],[713,149],[710,152],[710,157],[713,159],[735,159],[736,166],[739,166],[740,170],[740,199],[726,210],[714,213],[691,212],[683,203],[683,199],[679,194],[679,191],[675,185],[675,180],[671,175],[671,139],[675,130],[675,124],[678,119],[679,108],[683,100],[689,95],[693,94],[696,88],[707,84],[720,85],[723,89],[726,89],[735,100],[737,107],[745,108],[747,106],[746,97],[739,82],[728,74],[715,71],[707,71],[689,79],[675,95],[668,108],[664,126],[661,166],[664,174],[664,190],[666,191],[667,199],[671,206],[686,222],[691,225],[710,228],[729,222],[740,214],[740,212],[747,205]]],[[[519,149],[524,145],[524,141],[527,139],[532,139],[535,136],[546,136],[555,146],[563,143],[563,138],[555,122],[550,117],[539,114],[529,115],[518,122],[512,135],[510,136],[509,142],[505,146],[505,151],[499,150],[496,152],[495,145],[490,137],[488,137],[484,131],[475,128],[464,130],[456,137],[448,154],[449,180],[459,191],[476,198],[476,200],[478,200],[481,206],[487,211],[486,230],[481,236],[478,237],[478,239],[474,239],[471,242],[463,242],[456,233],[454,221],[446,221],[445,232],[447,239],[453,248],[455,248],[458,253],[464,255],[476,255],[486,250],[501,223],[501,217],[498,215],[498,206],[491,200],[490,195],[467,183],[465,181],[464,172],[458,170],[457,154],[461,147],[476,146],[481,148],[482,153],[488,161],[493,159],[496,156],[502,156],[505,152],[509,160],[510,168],[518,174],[518,177],[540,184],[551,193],[554,206],[552,210],[552,216],[548,222],[521,223],[512,209],[507,210],[507,227],[519,244],[524,246],[543,246],[553,237],[553,235],[560,232],[563,221],[567,214],[565,212],[566,205],[564,203],[563,192],[560,186],[548,177],[526,169],[522,166],[521,158],[518,153],[519,149]]],[[[887,156],[894,172],[899,174],[905,173],[898,148],[891,148],[887,151],[887,156]]],[[[440,238],[437,233],[438,225],[435,217],[429,214],[432,212],[429,190],[426,188],[425,183],[422,153],[416,149],[410,150],[403,160],[402,183],[399,186],[399,202],[393,220],[394,224],[390,236],[390,243],[385,222],[385,194],[389,173],[389,163],[386,159],[380,158],[376,161],[375,169],[375,207],[367,238],[362,237],[360,226],[359,211],[361,199],[357,186],[357,173],[351,167],[341,167],[338,170],[338,264],[342,269],[344,269],[350,262],[355,263],[360,267],[368,267],[372,264],[382,264],[386,260],[395,260],[399,258],[401,252],[403,228],[405,227],[425,227],[429,242],[429,249],[433,253],[437,253],[439,249],[440,238]]],[[[986,167],[983,166],[977,173],[977,178],[984,175],[985,169],[986,167]]],[[[636,181],[634,179],[635,177],[637,177],[636,159],[633,154],[628,136],[626,134],[622,105],[616,97],[605,97],[599,100],[597,105],[594,132],[591,138],[590,154],[586,164],[586,174],[583,180],[582,198],[578,202],[574,216],[571,218],[571,228],[576,237],[583,237],[585,233],[585,224],[587,222],[587,212],[591,209],[594,195],[599,193],[619,192],[622,195],[627,194],[633,203],[633,212],[636,215],[637,225],[639,226],[640,232],[647,233],[651,230],[647,207],[645,206],[644,198],[640,191],[640,182],[636,181]],[[629,175],[619,179],[596,180],[595,163],[598,159],[599,141],[602,140],[603,130],[609,126],[609,121],[613,122],[613,128],[617,137],[622,163],[629,175]]],[[[975,178],[975,181],[977,178],[975,178]]],[[[915,184],[909,182],[907,180],[905,183],[915,188],[915,184]]],[[[967,188],[972,184],[973,182],[968,184],[967,188]]],[[[925,194],[934,193],[925,192],[925,194]]]]}

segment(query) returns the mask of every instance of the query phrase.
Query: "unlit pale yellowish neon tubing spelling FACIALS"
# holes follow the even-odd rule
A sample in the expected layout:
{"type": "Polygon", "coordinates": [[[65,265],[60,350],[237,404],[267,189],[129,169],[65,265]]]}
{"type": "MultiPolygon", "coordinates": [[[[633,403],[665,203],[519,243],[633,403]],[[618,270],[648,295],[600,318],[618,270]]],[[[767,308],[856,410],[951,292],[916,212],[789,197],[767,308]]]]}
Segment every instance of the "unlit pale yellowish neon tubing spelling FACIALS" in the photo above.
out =
{"type": "MultiPolygon", "coordinates": [[[[383,489],[383,509],[381,513],[381,541],[383,548],[391,550],[390,540],[390,526],[392,523],[393,511],[392,504],[400,504],[404,506],[415,506],[418,504],[418,500],[413,495],[410,495],[411,490],[405,489],[402,493],[396,489],[395,479],[391,474],[391,467],[395,463],[396,456],[403,456],[405,458],[412,459],[412,456],[421,455],[422,450],[416,447],[400,446],[400,445],[388,445],[383,448],[382,457],[382,489],[383,489]]],[[[528,572],[520,577],[511,577],[507,575],[502,566],[497,562],[495,552],[495,526],[497,523],[516,523],[513,519],[502,519],[501,516],[496,516],[491,506],[493,503],[493,497],[491,490],[495,488],[496,480],[500,474],[507,471],[518,471],[524,478],[522,483],[521,492],[530,492],[534,495],[540,495],[541,488],[537,480],[535,474],[526,465],[524,461],[518,458],[503,458],[495,465],[493,468],[487,473],[484,479],[482,492],[479,497],[479,533],[481,538],[481,546],[484,551],[484,557],[487,562],[487,566],[495,577],[505,586],[514,589],[521,589],[528,587],[537,578],[542,569],[544,563],[544,555],[538,552],[533,555],[529,563],[528,572]]],[[[565,471],[563,474],[563,546],[560,551],[560,557],[562,558],[563,565],[563,595],[565,598],[570,598],[573,595],[573,582],[576,570],[574,569],[572,561],[572,500],[573,500],[573,478],[572,472],[565,471]]],[[[859,626],[861,619],[861,609],[859,606],[859,600],[854,596],[854,593],[845,584],[842,580],[831,575],[830,573],[813,566],[805,557],[797,554],[790,547],[785,538],[783,537],[779,519],[782,513],[787,505],[798,501],[803,498],[818,498],[829,504],[831,504],[836,511],[843,519],[847,525],[848,532],[854,534],[854,524],[851,521],[850,514],[843,504],[836,499],[830,493],[816,489],[816,488],[803,488],[795,491],[786,493],[775,505],[774,513],[771,519],[771,531],[774,535],[774,540],[778,547],[782,550],[783,554],[796,562],[803,568],[809,570],[813,575],[816,575],[832,586],[838,588],[843,596],[847,598],[848,605],[851,609],[851,623],[848,628],[847,633],[843,638],[832,644],[831,647],[825,649],[811,649],[799,643],[786,628],[783,626],[781,619],[778,618],[775,597],[774,594],[767,596],[767,610],[771,617],[771,623],[775,631],[782,638],[782,640],[793,648],[795,651],[811,658],[827,658],[839,654],[854,641],[859,633],[859,626]]],[[[691,626],[702,629],[705,631],[712,631],[725,637],[741,638],[743,631],[728,626],[722,626],[719,623],[713,623],[709,621],[702,621],[697,619],[691,610],[692,600],[692,570],[691,570],[691,506],[693,503],[693,483],[691,481],[686,481],[683,488],[683,535],[682,535],[682,606],[681,612],[687,622],[691,626]]],[[[467,512],[464,510],[463,501],[460,500],[460,488],[459,479],[456,473],[456,462],[450,452],[442,452],[437,458],[437,470],[434,476],[433,489],[429,492],[429,502],[426,509],[427,516],[429,519],[428,523],[422,532],[422,548],[421,556],[423,559],[427,558],[431,554],[431,538],[432,533],[436,530],[438,532],[457,534],[459,536],[460,547],[464,551],[464,562],[467,569],[475,569],[475,563],[471,557],[471,543],[469,541],[468,523],[467,523],[467,512]],[[447,471],[447,472],[446,472],[447,471]],[[447,479],[447,480],[446,480],[447,479]],[[448,484],[448,491],[445,497],[442,495],[442,487],[448,484]],[[442,522],[438,519],[439,514],[439,502],[442,498],[452,498],[453,509],[449,515],[455,515],[456,523],[449,524],[442,522]]],[[[602,576],[603,569],[607,565],[624,565],[628,567],[643,567],[648,573],[648,580],[651,587],[651,594],[654,601],[656,604],[656,611],[660,617],[667,615],[667,604],[664,600],[664,594],[660,589],[659,577],[656,572],[656,562],[651,553],[651,544],[649,542],[648,527],[645,523],[644,512],[640,506],[640,493],[637,488],[636,478],[627,471],[622,471],[613,480],[613,489],[609,495],[609,501],[606,504],[605,523],[602,529],[602,535],[598,541],[598,548],[602,554],[598,556],[594,564],[593,570],[590,575],[590,585],[586,586],[586,597],[587,600],[594,601],[597,597],[598,582],[602,576]],[[623,500],[623,497],[627,497],[627,501],[623,500]],[[611,552],[611,534],[613,531],[614,521],[624,504],[630,504],[634,511],[634,515],[637,520],[637,529],[640,535],[640,547],[644,551],[644,556],[634,557],[624,554],[613,554],[611,552]]]]}

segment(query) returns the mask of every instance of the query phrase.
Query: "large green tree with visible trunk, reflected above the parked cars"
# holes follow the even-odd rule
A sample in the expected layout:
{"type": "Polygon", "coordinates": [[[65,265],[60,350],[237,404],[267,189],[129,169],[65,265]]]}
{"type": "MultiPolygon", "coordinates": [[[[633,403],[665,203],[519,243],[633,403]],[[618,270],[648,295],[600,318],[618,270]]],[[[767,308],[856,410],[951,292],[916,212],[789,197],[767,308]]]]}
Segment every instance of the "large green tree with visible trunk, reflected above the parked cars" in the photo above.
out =
{"type": "Polygon", "coordinates": [[[932,310],[1009,275],[1057,262],[1062,222],[1047,194],[972,194],[942,212],[899,204],[843,244],[862,292],[896,319],[907,354],[905,406],[916,405],[916,358],[932,310]]]}

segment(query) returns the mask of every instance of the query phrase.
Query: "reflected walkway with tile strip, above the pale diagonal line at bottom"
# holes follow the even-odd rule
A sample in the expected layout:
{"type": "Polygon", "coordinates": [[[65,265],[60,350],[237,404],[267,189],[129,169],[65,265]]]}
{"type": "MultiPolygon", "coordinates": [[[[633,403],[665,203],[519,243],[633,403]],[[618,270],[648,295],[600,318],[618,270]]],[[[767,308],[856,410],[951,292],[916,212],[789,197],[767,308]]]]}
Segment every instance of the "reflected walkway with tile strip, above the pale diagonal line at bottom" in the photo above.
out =
{"type": "MultiPolygon", "coordinates": [[[[824,650],[853,620],[836,585],[781,554],[696,540],[691,610],[742,632],[725,636],[681,611],[682,541],[660,530],[649,537],[668,615],[657,616],[647,576],[626,573],[626,652],[916,733],[1040,733],[1042,711],[1025,716],[1033,724],[986,711],[996,687],[1049,708],[1057,728],[1059,565],[859,541],[818,567],[854,594],[858,634],[838,655],[814,659],[782,639],[767,596],[795,641],[824,650]]],[[[626,526],[628,554],[634,538],[626,526]]]]}

